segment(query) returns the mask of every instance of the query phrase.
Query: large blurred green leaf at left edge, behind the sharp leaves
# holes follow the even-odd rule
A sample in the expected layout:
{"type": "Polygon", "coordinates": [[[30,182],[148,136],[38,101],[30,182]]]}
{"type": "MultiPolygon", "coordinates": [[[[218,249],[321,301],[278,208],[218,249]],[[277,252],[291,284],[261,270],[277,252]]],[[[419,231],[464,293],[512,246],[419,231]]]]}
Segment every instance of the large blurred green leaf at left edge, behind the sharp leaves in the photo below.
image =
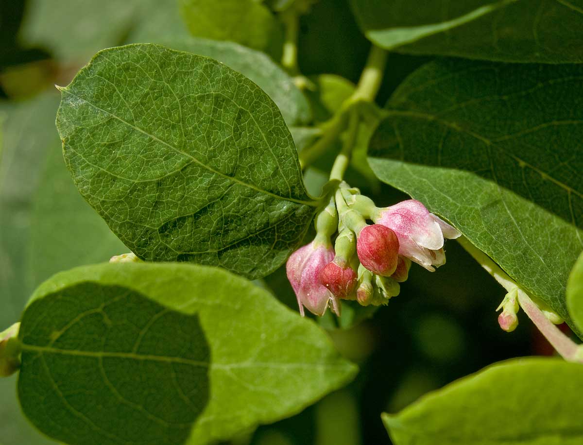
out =
{"type": "MultiPolygon", "coordinates": [[[[127,251],[71,181],[54,126],[58,103],[58,94],[45,94],[5,110],[0,329],[20,318],[32,290],[55,272],[127,251]]],[[[49,443],[24,419],[15,384],[15,377],[0,380],[3,445],[49,443]]]]}

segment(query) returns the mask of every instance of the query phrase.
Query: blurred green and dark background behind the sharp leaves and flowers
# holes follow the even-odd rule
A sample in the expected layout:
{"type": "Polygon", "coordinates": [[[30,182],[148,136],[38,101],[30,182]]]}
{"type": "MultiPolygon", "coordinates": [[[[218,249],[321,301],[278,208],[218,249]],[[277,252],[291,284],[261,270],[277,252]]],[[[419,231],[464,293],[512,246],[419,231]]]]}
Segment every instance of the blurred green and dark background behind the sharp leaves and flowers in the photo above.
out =
{"type": "MultiPolygon", "coordinates": [[[[147,23],[136,2],[117,13],[107,1],[64,2],[71,6],[65,16],[47,13],[47,3],[52,2],[0,3],[0,330],[19,319],[31,291],[48,276],[127,251],[83,201],[65,169],[54,127],[59,96],[53,85],[68,83],[101,47],[132,41],[136,34],[146,41],[166,30],[185,32],[175,23],[180,19],[174,0],[144,2],[150,12],[155,8],[147,23]],[[43,39],[43,27],[65,37],[43,39]],[[74,33],[68,36],[67,31],[74,33]]],[[[356,82],[369,47],[343,0],[321,0],[301,18],[299,65],[304,75],[334,73],[356,82]]],[[[379,104],[427,60],[389,55],[379,104]]],[[[374,193],[378,205],[406,199],[386,185],[368,184],[357,174],[354,178],[353,185],[374,193]]],[[[446,250],[447,265],[433,274],[413,265],[401,295],[356,327],[333,329],[331,318],[322,320],[338,349],[361,367],[352,384],[231,443],[389,444],[382,411],[396,412],[498,360],[550,353],[524,317],[517,331],[501,331],[494,310],[503,289],[455,241],[448,241],[446,250]]],[[[263,285],[297,309],[283,269],[263,285]]],[[[0,445],[50,443],[20,414],[15,383],[15,377],[0,381],[0,445]]]]}

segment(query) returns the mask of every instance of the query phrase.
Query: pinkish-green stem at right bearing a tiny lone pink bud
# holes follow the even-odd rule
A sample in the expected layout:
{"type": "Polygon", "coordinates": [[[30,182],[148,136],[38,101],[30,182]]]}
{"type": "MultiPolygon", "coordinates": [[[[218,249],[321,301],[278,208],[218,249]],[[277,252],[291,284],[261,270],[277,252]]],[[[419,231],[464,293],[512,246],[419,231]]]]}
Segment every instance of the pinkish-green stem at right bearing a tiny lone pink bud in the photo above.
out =
{"type": "Polygon", "coordinates": [[[510,278],[488,255],[470,243],[466,237],[459,237],[458,242],[504,289],[508,292],[518,289],[518,303],[522,310],[565,360],[583,363],[583,350],[580,345],[577,345],[552,324],[517,282],[510,278]]]}

